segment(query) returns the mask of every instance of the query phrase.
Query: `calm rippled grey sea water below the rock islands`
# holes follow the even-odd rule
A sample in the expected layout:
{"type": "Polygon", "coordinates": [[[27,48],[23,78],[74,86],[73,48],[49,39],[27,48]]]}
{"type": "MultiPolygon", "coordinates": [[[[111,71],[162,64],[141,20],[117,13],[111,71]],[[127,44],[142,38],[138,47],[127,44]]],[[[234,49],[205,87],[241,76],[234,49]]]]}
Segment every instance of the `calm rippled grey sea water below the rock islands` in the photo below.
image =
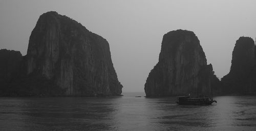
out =
{"type": "Polygon", "coordinates": [[[256,130],[255,96],[215,97],[208,106],[175,97],[0,98],[1,130],[256,130]]]}

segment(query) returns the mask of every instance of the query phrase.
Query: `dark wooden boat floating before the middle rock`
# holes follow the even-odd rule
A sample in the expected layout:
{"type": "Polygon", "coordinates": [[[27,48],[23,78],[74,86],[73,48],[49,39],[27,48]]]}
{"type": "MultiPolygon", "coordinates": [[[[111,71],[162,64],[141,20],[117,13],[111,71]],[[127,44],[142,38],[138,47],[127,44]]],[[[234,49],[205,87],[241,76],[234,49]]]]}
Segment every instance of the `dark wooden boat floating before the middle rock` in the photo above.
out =
{"type": "Polygon", "coordinates": [[[209,98],[209,97],[190,98],[190,96],[179,96],[176,98],[177,98],[176,103],[181,105],[210,105],[214,102],[217,103],[216,100],[213,100],[212,98],[209,98]]]}

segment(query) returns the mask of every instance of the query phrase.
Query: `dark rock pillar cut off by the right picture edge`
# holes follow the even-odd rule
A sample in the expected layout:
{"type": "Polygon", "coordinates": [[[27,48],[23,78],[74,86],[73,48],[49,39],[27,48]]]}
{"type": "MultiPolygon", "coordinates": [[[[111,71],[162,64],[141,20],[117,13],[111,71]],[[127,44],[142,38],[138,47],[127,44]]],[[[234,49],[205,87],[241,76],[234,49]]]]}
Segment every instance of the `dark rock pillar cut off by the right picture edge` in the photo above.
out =
{"type": "Polygon", "coordinates": [[[251,94],[256,91],[256,52],[250,37],[240,37],[232,52],[229,73],[221,79],[227,94],[251,94]]]}

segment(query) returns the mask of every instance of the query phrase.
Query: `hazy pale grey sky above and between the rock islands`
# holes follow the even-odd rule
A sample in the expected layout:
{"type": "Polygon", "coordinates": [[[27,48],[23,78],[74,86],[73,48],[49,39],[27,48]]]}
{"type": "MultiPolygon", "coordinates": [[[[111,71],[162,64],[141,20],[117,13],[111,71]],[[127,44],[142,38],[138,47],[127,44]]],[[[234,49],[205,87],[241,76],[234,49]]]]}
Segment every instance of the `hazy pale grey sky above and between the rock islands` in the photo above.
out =
{"type": "Polygon", "coordinates": [[[26,55],[36,21],[48,11],[67,15],[108,40],[123,92],[144,91],[148,73],[158,62],[162,37],[169,31],[193,31],[219,78],[229,72],[236,40],[240,36],[256,37],[253,0],[0,0],[0,49],[26,55]]]}

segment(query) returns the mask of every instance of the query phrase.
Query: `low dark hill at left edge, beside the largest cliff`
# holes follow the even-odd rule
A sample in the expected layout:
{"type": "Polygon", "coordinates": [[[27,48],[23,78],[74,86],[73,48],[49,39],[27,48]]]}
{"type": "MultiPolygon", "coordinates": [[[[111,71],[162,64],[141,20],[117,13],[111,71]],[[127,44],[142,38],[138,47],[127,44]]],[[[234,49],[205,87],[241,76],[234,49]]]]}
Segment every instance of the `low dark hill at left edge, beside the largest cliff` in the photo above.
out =
{"type": "Polygon", "coordinates": [[[19,51],[0,50],[0,94],[5,93],[7,85],[17,77],[22,58],[19,51]]]}

